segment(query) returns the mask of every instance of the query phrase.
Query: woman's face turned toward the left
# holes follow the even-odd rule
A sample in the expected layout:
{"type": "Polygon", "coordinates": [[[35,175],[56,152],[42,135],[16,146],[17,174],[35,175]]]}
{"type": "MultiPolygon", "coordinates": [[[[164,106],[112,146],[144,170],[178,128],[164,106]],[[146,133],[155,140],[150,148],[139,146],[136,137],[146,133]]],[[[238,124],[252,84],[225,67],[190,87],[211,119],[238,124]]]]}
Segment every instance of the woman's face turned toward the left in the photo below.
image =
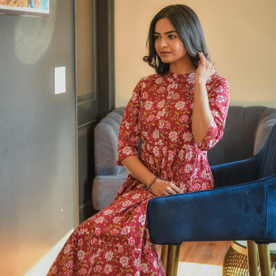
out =
{"type": "Polygon", "coordinates": [[[172,65],[190,62],[188,52],[177,31],[166,18],[159,19],[155,24],[155,50],[164,63],[172,65]]]}

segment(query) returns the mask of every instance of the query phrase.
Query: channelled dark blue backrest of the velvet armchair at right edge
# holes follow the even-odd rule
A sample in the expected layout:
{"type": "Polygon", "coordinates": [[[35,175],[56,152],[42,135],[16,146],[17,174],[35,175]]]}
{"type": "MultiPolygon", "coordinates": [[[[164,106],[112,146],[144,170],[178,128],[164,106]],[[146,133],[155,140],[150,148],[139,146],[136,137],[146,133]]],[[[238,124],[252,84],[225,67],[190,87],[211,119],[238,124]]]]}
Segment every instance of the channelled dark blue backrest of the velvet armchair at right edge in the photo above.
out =
{"type": "Polygon", "coordinates": [[[266,143],[256,154],[259,179],[276,174],[276,124],[271,129],[266,143]]]}

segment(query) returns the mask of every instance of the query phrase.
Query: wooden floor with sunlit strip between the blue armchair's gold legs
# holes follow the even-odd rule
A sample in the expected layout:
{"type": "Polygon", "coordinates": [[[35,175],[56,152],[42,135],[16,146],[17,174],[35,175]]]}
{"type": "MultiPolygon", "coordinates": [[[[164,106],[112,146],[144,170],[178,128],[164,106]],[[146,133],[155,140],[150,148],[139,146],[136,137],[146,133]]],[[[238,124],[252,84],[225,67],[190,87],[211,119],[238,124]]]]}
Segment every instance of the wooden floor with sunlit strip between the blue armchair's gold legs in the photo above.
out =
{"type": "MultiPolygon", "coordinates": [[[[177,275],[222,275],[224,255],[229,246],[230,242],[184,242],[180,247],[177,275]]],[[[160,253],[161,246],[157,249],[160,253]]]]}

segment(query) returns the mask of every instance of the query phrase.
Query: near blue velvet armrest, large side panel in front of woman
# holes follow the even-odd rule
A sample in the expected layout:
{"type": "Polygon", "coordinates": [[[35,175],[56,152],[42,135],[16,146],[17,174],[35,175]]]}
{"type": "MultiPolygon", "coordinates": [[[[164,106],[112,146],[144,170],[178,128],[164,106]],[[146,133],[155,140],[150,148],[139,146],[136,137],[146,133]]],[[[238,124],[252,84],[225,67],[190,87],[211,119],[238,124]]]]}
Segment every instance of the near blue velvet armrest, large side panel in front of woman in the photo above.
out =
{"type": "Polygon", "coordinates": [[[213,190],[155,197],[147,209],[155,244],[276,241],[276,175],[213,190]]]}

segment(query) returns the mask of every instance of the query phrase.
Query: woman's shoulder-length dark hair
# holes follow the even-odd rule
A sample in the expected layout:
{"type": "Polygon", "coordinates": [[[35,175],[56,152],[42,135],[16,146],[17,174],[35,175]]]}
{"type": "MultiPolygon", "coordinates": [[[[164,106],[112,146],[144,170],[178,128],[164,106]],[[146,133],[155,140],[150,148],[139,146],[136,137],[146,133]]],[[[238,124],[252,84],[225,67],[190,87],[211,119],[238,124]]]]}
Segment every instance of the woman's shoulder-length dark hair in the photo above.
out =
{"type": "Polygon", "coordinates": [[[155,50],[155,24],[162,18],[166,18],[172,23],[195,68],[198,67],[198,52],[203,52],[206,59],[210,60],[204,32],[197,14],[186,5],[170,5],[160,10],[150,23],[147,41],[148,55],[143,60],[155,68],[155,72],[163,75],[170,69],[170,64],[162,62],[155,50]]]}

